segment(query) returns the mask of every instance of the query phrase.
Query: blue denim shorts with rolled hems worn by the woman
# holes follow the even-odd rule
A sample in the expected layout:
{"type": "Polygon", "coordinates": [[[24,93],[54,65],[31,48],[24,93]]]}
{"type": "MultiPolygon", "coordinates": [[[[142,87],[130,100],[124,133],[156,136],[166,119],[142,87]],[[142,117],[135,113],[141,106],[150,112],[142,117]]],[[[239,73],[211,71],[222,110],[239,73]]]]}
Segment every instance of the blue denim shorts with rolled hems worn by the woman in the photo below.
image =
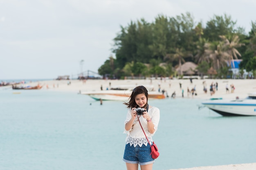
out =
{"type": "Polygon", "coordinates": [[[147,165],[150,163],[154,163],[155,159],[153,159],[150,155],[151,148],[148,144],[147,146],[142,144],[140,147],[137,145],[136,147],[130,146],[130,144],[126,144],[124,150],[124,161],[126,163],[139,163],[140,165],[147,165]]]}

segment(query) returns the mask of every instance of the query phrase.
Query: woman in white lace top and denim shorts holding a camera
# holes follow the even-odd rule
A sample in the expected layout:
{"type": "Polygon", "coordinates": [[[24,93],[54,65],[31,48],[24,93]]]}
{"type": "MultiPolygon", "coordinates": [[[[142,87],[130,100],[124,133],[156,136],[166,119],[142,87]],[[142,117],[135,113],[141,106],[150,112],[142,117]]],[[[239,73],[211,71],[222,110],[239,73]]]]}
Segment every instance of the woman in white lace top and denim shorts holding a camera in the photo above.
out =
{"type": "Polygon", "coordinates": [[[135,87],[129,99],[129,102],[124,102],[128,112],[124,122],[124,133],[127,133],[127,137],[123,160],[126,162],[127,170],[138,170],[139,165],[141,170],[152,170],[155,159],[150,155],[150,145],[153,143],[152,136],[157,131],[160,111],[157,107],[148,105],[148,90],[144,86],[135,87]],[[138,115],[136,108],[144,109],[144,111],[138,115]]]}

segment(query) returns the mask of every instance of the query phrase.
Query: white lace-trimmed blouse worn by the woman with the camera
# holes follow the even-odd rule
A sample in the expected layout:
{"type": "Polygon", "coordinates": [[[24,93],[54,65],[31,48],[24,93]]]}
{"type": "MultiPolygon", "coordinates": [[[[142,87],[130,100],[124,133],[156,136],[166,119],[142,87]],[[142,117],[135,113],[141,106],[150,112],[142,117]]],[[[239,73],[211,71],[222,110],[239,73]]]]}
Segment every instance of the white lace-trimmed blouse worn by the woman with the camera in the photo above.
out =
{"type": "MultiPolygon", "coordinates": [[[[126,116],[126,120],[124,121],[124,124],[129,122],[129,120],[132,118],[130,112],[131,112],[131,109],[129,109],[127,112],[127,116],[126,116]]],[[[150,109],[148,109],[148,114],[151,117],[151,121],[155,125],[154,129],[156,132],[157,126],[159,123],[159,119],[160,119],[160,111],[157,107],[151,107],[150,109]]],[[[142,115],[139,116],[139,121],[141,123],[141,126],[144,129],[144,132],[146,133],[146,135],[148,137],[149,142],[152,144],[152,142],[153,142],[152,136],[155,134],[155,132],[153,134],[151,134],[148,131],[147,120],[144,119],[142,115]]],[[[130,146],[132,146],[132,144],[133,144],[134,147],[136,147],[137,145],[139,145],[141,147],[142,144],[144,144],[146,146],[148,144],[148,141],[141,129],[139,121],[137,121],[137,118],[135,118],[135,121],[133,122],[134,125],[132,126],[132,128],[128,131],[124,130],[124,133],[127,133],[126,144],[130,144],[130,146]]]]}

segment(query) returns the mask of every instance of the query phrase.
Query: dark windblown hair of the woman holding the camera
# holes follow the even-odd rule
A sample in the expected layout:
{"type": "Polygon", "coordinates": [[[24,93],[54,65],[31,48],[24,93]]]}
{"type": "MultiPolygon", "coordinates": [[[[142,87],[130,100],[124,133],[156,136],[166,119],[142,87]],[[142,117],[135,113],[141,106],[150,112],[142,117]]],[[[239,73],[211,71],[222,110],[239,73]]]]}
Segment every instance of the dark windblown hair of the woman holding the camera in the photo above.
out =
{"type": "Polygon", "coordinates": [[[135,97],[138,94],[145,94],[146,98],[147,98],[147,103],[146,105],[144,105],[144,109],[146,109],[147,105],[148,105],[148,90],[146,89],[146,87],[144,87],[143,85],[137,86],[132,90],[132,94],[129,97],[130,101],[129,102],[124,102],[125,105],[127,105],[128,108],[132,108],[132,107],[138,107],[138,105],[135,102],[135,97]]]}

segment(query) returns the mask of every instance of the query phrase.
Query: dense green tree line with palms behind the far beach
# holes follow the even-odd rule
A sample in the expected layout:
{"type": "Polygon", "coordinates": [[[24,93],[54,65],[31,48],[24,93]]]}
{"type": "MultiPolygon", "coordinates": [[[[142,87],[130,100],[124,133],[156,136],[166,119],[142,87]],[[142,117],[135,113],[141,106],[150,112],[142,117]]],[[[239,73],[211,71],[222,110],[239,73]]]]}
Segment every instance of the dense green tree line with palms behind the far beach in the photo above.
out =
{"type": "Polygon", "coordinates": [[[175,67],[191,61],[198,65],[201,75],[216,70],[216,77],[229,74],[233,59],[243,59],[243,70],[256,76],[256,22],[245,33],[236,26],[230,15],[213,15],[205,26],[196,23],[191,13],[167,17],[158,15],[149,23],[143,18],[130,21],[113,39],[112,52],[98,69],[100,75],[110,78],[125,76],[182,76],[175,67]],[[228,64],[227,64],[228,63],[228,64]]]}

